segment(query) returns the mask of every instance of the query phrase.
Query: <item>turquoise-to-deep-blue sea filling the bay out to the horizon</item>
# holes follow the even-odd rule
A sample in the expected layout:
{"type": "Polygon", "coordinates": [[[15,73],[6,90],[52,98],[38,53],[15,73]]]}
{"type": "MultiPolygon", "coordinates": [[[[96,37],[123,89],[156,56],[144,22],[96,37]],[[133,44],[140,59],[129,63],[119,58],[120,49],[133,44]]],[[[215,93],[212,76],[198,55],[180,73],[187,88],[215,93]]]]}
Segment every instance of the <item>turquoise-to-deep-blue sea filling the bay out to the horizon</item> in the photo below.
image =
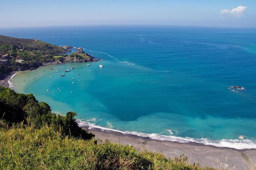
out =
{"type": "Polygon", "coordinates": [[[54,112],[73,110],[80,123],[159,140],[256,148],[255,30],[67,27],[0,34],[83,47],[102,59],[13,77],[15,91],[33,93],[54,112]],[[234,92],[232,85],[245,89],[234,92]]]}

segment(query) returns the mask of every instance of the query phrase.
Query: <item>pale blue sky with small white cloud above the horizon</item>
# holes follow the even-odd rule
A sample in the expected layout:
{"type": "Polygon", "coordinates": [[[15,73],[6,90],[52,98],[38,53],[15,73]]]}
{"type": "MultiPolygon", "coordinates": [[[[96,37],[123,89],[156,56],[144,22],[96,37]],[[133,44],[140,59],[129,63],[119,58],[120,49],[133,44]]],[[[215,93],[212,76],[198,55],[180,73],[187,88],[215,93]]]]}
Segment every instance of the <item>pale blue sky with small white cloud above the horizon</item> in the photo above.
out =
{"type": "Polygon", "coordinates": [[[67,25],[256,28],[256,0],[0,0],[0,28],[67,25]]]}

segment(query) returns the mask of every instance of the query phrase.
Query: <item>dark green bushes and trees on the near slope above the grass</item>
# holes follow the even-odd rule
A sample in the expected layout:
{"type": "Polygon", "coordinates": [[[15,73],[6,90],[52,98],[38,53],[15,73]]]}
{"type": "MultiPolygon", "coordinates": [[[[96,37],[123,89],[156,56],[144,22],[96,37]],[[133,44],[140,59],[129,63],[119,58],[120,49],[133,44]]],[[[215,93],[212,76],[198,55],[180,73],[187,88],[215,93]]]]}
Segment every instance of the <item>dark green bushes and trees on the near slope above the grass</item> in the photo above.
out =
{"type": "Polygon", "coordinates": [[[0,87],[0,117],[13,125],[23,122],[33,124],[36,128],[50,126],[54,130],[61,128],[62,135],[90,139],[93,134],[80,128],[75,122],[75,112],[67,112],[66,116],[51,113],[50,106],[38,102],[32,94],[19,94],[10,88],[0,87]]]}

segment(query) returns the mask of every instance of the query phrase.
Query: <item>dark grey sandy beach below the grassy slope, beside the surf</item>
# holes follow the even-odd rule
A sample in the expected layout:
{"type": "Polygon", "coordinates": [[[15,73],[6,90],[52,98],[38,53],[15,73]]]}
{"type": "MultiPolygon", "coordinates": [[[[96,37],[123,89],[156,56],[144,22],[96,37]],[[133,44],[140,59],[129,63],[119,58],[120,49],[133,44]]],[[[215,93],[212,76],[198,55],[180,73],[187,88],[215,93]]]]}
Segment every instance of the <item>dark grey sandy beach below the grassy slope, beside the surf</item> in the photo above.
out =
{"type": "Polygon", "coordinates": [[[256,149],[237,150],[227,147],[214,147],[200,143],[179,143],[161,140],[152,140],[149,137],[139,137],[132,134],[123,134],[114,131],[103,131],[100,128],[81,126],[95,135],[95,138],[104,142],[106,139],[113,143],[131,145],[138,150],[159,152],[168,158],[179,157],[183,153],[190,163],[199,162],[202,166],[211,166],[221,169],[255,169],[256,149]]]}

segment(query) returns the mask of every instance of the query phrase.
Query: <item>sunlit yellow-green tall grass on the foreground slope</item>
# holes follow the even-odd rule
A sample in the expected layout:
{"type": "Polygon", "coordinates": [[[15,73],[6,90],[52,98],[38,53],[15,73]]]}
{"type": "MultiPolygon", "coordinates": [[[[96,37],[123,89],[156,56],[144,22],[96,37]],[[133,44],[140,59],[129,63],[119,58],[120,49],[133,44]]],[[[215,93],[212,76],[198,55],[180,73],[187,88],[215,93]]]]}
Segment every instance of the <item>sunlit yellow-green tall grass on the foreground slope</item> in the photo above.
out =
{"type": "Polygon", "coordinates": [[[2,123],[0,127],[0,169],[213,169],[199,163],[190,165],[184,155],[169,159],[109,141],[96,144],[94,140],[68,138],[47,126],[10,128],[2,123]]]}

